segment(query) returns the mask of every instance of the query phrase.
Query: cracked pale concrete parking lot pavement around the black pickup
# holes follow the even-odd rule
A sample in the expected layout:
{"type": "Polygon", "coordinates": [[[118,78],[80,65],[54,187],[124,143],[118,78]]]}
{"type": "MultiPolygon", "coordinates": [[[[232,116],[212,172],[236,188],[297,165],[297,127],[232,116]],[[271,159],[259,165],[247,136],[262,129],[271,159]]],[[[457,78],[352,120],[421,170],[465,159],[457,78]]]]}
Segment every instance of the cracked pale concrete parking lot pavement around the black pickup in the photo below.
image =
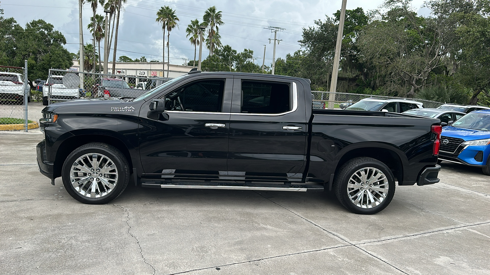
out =
{"type": "MultiPolygon", "coordinates": [[[[29,104],[29,119],[41,109],[29,104]]],[[[441,183],[397,186],[375,215],[323,192],[132,183],[84,205],[39,172],[42,138],[0,132],[0,274],[490,274],[480,169],[443,162],[441,183]]]]}

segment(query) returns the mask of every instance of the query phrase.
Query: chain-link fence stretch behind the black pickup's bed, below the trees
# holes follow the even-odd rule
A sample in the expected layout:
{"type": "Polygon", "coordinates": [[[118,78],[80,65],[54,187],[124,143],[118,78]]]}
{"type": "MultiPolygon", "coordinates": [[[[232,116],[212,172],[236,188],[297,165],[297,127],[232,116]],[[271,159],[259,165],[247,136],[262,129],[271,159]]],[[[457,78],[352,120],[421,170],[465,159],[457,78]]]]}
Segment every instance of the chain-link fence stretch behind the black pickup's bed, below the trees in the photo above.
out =
{"type": "Polygon", "coordinates": [[[437,108],[444,103],[435,102],[418,98],[402,98],[391,96],[380,96],[372,94],[359,94],[359,93],[347,93],[347,92],[316,92],[312,91],[313,108],[314,109],[328,109],[329,104],[333,104],[333,109],[345,109],[350,105],[356,103],[365,98],[375,97],[381,99],[408,99],[418,101],[423,104],[424,108],[437,108]]]}

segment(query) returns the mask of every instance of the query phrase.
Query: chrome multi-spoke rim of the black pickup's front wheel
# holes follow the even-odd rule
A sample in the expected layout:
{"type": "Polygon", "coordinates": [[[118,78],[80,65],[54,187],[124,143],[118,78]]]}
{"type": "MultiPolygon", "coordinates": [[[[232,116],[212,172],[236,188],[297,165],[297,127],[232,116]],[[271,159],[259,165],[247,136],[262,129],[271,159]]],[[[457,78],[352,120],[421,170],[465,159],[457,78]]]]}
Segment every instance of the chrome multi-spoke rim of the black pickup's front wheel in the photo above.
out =
{"type": "Polygon", "coordinates": [[[86,154],[73,162],[70,181],[80,195],[101,198],[116,187],[118,169],[114,161],[102,154],[86,154]]]}

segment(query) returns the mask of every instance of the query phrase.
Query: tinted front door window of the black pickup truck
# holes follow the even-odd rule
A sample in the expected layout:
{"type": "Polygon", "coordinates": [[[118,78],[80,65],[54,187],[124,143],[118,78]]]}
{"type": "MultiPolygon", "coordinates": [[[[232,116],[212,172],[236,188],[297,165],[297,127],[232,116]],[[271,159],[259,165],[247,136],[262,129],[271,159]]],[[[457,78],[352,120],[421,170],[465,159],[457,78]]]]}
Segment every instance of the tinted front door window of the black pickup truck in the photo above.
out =
{"type": "Polygon", "coordinates": [[[193,82],[167,94],[165,110],[221,112],[223,91],[224,80],[193,82]]]}

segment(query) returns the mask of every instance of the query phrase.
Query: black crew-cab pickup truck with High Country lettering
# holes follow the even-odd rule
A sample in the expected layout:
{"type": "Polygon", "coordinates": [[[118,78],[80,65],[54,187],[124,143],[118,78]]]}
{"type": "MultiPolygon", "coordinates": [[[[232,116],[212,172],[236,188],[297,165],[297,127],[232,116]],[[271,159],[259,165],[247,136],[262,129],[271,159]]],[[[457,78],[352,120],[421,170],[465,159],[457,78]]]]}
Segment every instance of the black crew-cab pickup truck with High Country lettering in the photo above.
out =
{"type": "Polygon", "coordinates": [[[309,83],[191,71],[138,98],[55,103],[43,110],[39,168],[87,204],[115,199],[132,177],[153,188],[333,190],[360,214],[388,206],[395,182],[439,182],[439,119],[315,110],[309,83]]]}

